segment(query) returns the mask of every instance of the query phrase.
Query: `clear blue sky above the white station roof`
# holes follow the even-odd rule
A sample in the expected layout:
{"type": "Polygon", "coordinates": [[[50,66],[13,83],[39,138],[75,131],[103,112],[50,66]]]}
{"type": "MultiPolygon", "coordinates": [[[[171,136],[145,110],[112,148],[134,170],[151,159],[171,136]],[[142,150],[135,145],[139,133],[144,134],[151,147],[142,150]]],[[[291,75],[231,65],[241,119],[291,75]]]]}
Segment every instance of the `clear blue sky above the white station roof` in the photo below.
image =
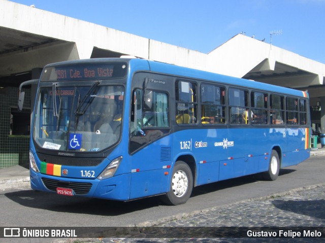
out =
{"type": "Polygon", "coordinates": [[[208,53],[241,31],[325,63],[325,0],[13,0],[208,53]]]}

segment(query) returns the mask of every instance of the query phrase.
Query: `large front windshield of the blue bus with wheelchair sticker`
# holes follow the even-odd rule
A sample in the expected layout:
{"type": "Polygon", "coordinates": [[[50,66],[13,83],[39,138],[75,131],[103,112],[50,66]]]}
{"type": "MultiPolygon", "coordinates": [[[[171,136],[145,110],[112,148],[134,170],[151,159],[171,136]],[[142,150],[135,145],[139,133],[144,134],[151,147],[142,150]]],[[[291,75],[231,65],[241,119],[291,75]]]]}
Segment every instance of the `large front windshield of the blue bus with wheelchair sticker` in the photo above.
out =
{"type": "Polygon", "coordinates": [[[114,145],[121,131],[124,87],[99,84],[40,87],[32,133],[37,145],[80,152],[114,145]]]}

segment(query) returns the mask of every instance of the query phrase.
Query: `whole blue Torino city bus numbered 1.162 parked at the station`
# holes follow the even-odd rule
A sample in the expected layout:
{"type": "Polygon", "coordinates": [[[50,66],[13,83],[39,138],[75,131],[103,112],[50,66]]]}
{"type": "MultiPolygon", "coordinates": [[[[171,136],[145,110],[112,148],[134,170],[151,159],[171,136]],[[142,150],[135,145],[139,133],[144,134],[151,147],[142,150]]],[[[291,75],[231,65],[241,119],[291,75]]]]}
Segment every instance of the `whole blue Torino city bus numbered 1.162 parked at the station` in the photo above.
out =
{"type": "Polygon", "coordinates": [[[31,188],[67,196],[177,205],[310,154],[306,92],[137,58],[46,65],[31,127],[31,188]]]}

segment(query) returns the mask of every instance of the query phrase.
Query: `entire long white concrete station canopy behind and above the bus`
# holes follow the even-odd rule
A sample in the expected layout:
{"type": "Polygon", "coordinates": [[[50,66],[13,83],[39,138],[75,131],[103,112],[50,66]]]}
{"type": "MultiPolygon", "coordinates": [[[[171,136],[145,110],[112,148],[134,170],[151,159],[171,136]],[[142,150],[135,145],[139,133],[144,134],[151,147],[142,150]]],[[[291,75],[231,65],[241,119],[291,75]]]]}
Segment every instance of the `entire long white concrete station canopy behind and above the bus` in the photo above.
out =
{"type": "Polygon", "coordinates": [[[325,64],[243,34],[206,54],[7,0],[0,5],[0,86],[17,86],[51,62],[133,55],[308,89],[316,99],[325,93],[325,64]]]}

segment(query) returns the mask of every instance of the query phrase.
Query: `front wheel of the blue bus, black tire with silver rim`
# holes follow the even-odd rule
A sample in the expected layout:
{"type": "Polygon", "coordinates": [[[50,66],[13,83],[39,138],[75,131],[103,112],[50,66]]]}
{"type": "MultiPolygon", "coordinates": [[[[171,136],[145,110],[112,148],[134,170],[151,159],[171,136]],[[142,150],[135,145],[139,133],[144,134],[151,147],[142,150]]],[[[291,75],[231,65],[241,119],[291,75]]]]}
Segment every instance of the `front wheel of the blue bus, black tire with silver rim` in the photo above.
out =
{"type": "Polygon", "coordinates": [[[171,176],[170,190],[161,195],[168,205],[184,204],[190,197],[193,189],[193,176],[190,167],[183,161],[177,161],[171,176]]]}

